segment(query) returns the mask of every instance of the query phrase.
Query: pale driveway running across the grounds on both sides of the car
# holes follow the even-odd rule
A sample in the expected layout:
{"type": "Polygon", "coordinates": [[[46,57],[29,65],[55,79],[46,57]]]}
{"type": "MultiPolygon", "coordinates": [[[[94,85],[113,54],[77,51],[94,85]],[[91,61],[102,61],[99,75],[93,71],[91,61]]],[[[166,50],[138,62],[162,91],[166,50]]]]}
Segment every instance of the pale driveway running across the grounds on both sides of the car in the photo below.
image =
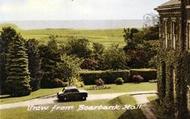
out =
{"type": "MultiPolygon", "coordinates": [[[[102,99],[113,99],[121,95],[145,95],[155,94],[156,91],[138,91],[138,92],[127,92],[127,93],[106,93],[106,94],[89,94],[87,100],[102,100],[102,99]]],[[[1,109],[10,109],[17,107],[27,107],[28,105],[46,105],[58,103],[56,95],[46,96],[42,98],[32,99],[24,102],[16,102],[9,104],[0,105],[1,109]]]]}

